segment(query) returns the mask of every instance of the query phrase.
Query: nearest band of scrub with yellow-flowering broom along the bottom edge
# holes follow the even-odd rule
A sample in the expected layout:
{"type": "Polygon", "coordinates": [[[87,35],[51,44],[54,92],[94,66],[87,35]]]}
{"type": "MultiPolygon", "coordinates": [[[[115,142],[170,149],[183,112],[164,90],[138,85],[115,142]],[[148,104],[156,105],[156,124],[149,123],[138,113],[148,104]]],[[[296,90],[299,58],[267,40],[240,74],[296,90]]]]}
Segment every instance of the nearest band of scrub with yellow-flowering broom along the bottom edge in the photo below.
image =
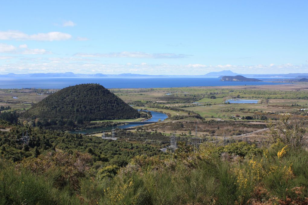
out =
{"type": "Polygon", "coordinates": [[[140,155],[126,167],[91,167],[91,156],[48,153],[0,160],[0,204],[307,204],[308,152],[245,143],[168,159],[140,155]]]}

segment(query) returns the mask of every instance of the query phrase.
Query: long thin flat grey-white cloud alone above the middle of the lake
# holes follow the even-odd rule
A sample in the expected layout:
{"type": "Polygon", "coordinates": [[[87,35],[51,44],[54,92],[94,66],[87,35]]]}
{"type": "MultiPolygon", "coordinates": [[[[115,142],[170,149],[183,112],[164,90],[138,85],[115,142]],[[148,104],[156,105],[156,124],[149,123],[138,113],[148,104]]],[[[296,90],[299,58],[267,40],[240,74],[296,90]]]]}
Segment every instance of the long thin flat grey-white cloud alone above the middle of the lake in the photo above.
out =
{"type": "Polygon", "coordinates": [[[119,53],[76,53],[80,57],[107,57],[107,58],[185,58],[190,55],[175,53],[144,53],[144,52],[119,52],[119,53]]]}

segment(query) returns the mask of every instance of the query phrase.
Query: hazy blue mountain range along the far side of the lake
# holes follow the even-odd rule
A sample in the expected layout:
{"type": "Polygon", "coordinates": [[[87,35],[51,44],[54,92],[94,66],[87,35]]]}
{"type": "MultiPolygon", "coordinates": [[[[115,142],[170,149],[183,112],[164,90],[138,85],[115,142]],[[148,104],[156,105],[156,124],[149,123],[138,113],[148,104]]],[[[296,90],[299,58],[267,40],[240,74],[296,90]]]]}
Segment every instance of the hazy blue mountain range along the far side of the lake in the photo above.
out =
{"type": "Polygon", "coordinates": [[[308,73],[288,73],[288,74],[239,74],[233,73],[231,70],[223,70],[220,72],[210,72],[205,75],[143,75],[133,73],[122,73],[122,74],[76,74],[72,72],[67,73],[29,73],[29,74],[0,74],[0,78],[28,78],[28,77],[223,77],[223,76],[237,76],[241,75],[244,77],[294,77],[303,78],[308,77],[308,73]]]}

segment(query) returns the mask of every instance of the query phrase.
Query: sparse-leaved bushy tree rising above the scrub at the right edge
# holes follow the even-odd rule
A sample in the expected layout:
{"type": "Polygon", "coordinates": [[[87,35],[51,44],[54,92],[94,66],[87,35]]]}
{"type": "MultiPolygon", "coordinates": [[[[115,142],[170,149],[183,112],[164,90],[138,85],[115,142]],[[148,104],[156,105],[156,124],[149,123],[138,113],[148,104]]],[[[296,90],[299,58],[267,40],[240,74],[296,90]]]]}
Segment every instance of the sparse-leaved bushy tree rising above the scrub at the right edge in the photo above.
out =
{"type": "Polygon", "coordinates": [[[308,131],[306,121],[290,119],[290,114],[287,113],[282,115],[277,124],[270,122],[268,128],[274,142],[280,140],[292,147],[301,145],[308,131]]]}

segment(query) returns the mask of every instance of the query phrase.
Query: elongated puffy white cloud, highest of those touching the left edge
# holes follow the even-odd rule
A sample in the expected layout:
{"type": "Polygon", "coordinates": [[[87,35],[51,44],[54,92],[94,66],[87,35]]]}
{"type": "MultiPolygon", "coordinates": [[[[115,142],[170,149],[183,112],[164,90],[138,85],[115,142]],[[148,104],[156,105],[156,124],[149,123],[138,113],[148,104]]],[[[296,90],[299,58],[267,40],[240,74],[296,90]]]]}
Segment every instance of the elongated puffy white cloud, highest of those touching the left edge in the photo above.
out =
{"type": "Polygon", "coordinates": [[[68,40],[72,36],[62,32],[49,32],[28,35],[21,31],[0,31],[0,40],[33,40],[33,41],[63,41],[68,40]]]}

